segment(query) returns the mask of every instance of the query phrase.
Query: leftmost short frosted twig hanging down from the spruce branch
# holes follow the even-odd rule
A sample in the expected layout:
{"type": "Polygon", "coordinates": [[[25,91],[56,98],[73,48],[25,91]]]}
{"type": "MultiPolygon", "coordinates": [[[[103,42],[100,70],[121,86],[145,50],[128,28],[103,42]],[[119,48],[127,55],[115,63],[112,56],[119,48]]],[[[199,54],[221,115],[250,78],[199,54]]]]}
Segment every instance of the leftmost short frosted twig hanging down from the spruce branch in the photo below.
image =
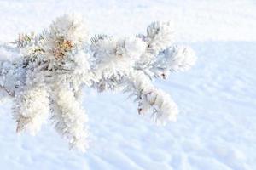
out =
{"type": "Polygon", "coordinates": [[[49,94],[44,87],[32,88],[16,97],[14,118],[17,133],[27,130],[35,135],[49,116],[49,94]]]}

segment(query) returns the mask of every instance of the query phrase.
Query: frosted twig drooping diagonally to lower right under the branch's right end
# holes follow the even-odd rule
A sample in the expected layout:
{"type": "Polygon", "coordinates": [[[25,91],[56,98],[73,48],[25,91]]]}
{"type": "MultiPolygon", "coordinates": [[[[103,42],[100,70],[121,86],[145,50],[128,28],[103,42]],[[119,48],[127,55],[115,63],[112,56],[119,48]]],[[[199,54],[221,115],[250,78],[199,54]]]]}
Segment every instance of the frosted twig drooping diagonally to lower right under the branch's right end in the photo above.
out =
{"type": "Polygon", "coordinates": [[[145,114],[152,112],[151,118],[157,124],[166,125],[166,122],[176,122],[178,109],[169,94],[161,89],[155,88],[143,72],[137,71],[130,75],[128,82],[131,84],[126,88],[131,94],[137,96],[138,112],[145,114]]]}

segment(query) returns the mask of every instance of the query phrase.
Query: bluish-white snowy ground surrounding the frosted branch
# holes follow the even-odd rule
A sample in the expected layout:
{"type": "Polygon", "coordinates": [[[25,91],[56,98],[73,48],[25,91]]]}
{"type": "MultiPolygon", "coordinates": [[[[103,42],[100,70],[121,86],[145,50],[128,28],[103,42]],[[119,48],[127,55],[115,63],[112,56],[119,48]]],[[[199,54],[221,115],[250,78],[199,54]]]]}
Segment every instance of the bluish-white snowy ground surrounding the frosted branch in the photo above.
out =
{"type": "Polygon", "coordinates": [[[256,3],[234,1],[0,0],[0,42],[41,31],[63,13],[84,14],[90,34],[129,36],[154,20],[172,20],[177,43],[195,49],[189,72],[155,82],[181,114],[157,127],[125,94],[84,90],[90,150],[68,150],[45,125],[15,134],[11,103],[0,107],[0,168],[122,170],[256,169],[256,3]]]}

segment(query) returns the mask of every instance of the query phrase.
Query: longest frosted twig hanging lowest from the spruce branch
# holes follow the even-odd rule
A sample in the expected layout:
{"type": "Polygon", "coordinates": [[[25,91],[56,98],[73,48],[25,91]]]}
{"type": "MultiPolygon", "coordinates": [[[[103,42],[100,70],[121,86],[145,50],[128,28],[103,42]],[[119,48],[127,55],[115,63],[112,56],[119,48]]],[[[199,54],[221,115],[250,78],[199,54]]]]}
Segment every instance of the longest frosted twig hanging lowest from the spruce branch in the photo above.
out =
{"type": "Polygon", "coordinates": [[[51,117],[58,133],[68,140],[69,147],[84,152],[88,148],[88,132],[84,123],[88,122],[85,111],[73,92],[68,88],[55,88],[56,103],[52,106],[51,117]]]}

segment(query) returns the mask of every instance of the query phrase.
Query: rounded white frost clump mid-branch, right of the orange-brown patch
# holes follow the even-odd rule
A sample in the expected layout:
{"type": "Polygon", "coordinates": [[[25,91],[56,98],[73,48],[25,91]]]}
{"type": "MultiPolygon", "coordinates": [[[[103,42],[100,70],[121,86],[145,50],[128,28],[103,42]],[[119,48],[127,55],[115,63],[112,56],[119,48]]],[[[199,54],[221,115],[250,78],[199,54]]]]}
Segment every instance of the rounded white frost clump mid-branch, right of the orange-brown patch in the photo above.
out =
{"type": "Polygon", "coordinates": [[[93,44],[96,68],[103,71],[129,72],[146,49],[140,38],[115,39],[108,37],[93,44]]]}

